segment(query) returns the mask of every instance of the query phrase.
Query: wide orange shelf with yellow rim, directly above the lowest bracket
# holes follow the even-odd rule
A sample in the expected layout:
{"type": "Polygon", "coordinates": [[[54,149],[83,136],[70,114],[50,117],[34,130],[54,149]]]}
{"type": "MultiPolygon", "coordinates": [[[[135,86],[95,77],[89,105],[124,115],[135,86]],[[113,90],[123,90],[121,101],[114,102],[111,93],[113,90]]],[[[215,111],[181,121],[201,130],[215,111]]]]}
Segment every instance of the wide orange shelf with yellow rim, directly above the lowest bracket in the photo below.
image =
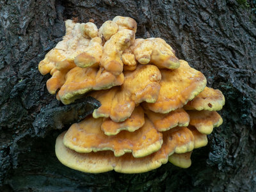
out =
{"type": "Polygon", "coordinates": [[[101,130],[103,118],[89,116],[73,124],[64,137],[64,145],[79,153],[112,150],[116,157],[132,152],[134,157],[144,157],[156,152],[163,143],[162,134],[152,122],[145,118],[145,124],[134,132],[122,131],[115,136],[106,136],[101,130]]]}

